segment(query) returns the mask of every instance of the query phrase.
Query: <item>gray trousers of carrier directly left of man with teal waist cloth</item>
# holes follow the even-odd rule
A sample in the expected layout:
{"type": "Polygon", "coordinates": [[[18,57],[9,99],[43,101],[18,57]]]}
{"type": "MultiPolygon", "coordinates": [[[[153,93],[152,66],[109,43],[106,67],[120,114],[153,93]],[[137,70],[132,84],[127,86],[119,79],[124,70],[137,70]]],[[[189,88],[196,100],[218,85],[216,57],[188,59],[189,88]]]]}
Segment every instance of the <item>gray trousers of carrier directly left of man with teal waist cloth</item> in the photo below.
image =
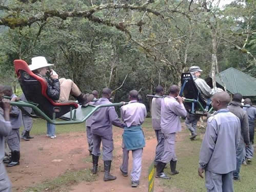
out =
{"type": "Polygon", "coordinates": [[[113,135],[95,135],[92,134],[92,139],[93,139],[93,148],[92,148],[92,154],[95,156],[100,156],[101,155],[101,142],[102,142],[102,159],[103,161],[112,161],[113,154],[112,151],[114,149],[114,144],[113,144],[113,135]]]}

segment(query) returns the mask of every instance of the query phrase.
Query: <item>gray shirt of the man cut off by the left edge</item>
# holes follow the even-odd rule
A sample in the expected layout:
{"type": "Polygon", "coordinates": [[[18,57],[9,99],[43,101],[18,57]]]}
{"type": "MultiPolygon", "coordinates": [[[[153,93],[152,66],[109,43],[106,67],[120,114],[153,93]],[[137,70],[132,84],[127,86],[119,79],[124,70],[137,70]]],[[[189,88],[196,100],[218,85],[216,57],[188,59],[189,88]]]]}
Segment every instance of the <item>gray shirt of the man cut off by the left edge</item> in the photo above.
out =
{"type": "Polygon", "coordinates": [[[5,137],[9,135],[11,130],[11,122],[5,120],[4,110],[0,108],[0,163],[5,157],[5,137]]]}

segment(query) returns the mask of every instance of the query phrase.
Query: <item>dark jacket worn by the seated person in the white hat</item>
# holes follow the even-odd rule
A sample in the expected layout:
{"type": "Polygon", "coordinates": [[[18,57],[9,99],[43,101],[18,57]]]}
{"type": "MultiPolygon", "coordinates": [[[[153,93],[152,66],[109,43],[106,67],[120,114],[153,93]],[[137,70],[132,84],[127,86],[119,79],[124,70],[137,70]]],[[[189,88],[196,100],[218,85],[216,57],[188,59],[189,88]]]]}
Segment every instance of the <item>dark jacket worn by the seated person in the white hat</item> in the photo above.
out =
{"type": "Polygon", "coordinates": [[[47,80],[47,95],[54,101],[60,99],[61,86],[60,81],[58,79],[48,79],[47,80]]]}

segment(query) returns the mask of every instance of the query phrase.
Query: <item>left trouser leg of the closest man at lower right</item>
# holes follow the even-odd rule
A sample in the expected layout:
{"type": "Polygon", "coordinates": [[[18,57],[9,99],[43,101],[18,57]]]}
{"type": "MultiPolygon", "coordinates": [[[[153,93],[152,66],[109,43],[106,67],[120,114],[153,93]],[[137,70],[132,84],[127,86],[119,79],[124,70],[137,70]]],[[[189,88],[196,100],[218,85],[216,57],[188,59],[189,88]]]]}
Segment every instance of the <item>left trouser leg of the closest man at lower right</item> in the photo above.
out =
{"type": "Polygon", "coordinates": [[[207,192],[226,192],[222,191],[222,175],[214,174],[205,170],[205,187],[207,192]]]}

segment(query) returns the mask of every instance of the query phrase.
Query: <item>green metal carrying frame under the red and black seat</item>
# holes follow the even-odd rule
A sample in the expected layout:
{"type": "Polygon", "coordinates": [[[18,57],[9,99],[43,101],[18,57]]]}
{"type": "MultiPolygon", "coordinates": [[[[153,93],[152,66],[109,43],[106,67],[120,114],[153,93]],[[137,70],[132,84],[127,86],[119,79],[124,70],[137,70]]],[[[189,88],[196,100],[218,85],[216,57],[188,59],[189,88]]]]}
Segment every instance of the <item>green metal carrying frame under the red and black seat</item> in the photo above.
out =
{"type": "MultiPolygon", "coordinates": [[[[6,97],[10,99],[10,97],[6,97]]],[[[88,117],[90,117],[95,111],[99,110],[100,108],[106,108],[108,106],[122,106],[124,104],[124,102],[120,102],[120,103],[111,103],[111,104],[100,104],[100,105],[88,105],[85,106],[84,108],[82,108],[83,111],[83,115],[85,115],[82,119],[76,119],[76,109],[71,110],[70,111],[70,119],[69,120],[56,120],[54,117],[54,113],[53,113],[53,119],[50,119],[43,111],[41,111],[39,108],[37,108],[38,104],[37,103],[32,103],[32,102],[27,102],[27,101],[11,101],[10,102],[11,105],[17,106],[19,109],[22,109],[24,106],[28,107],[28,108],[32,108],[32,110],[36,113],[36,114],[40,114],[40,118],[43,118],[45,120],[47,120],[49,123],[55,124],[55,125],[63,125],[63,124],[77,124],[77,123],[83,123],[86,121],[86,119],[88,119],[88,117]],[[74,114],[73,112],[74,111],[74,114]]],[[[38,117],[38,116],[36,116],[38,117]]]]}

